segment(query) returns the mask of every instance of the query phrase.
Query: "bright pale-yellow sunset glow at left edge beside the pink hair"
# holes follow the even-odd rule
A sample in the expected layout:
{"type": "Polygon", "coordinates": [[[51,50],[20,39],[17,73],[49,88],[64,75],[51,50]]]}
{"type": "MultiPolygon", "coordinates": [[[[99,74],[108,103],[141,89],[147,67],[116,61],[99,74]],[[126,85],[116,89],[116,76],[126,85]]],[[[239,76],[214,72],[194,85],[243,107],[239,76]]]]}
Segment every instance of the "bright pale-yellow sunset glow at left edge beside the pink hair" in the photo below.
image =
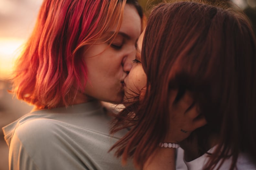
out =
{"type": "Polygon", "coordinates": [[[24,42],[24,39],[0,38],[0,79],[10,78],[14,61],[24,42]]]}

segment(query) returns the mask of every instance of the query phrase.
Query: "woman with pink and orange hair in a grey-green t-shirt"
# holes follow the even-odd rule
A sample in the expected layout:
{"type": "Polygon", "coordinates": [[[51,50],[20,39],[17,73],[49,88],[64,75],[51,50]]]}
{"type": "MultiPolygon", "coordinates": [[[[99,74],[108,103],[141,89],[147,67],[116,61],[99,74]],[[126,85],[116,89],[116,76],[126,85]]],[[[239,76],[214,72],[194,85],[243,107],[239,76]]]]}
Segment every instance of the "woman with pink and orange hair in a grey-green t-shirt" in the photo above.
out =
{"type": "Polygon", "coordinates": [[[126,131],[110,137],[100,100],[123,100],[142,18],[137,0],[43,1],[13,74],[35,109],[3,128],[9,169],[122,168],[107,151],[126,131]]]}

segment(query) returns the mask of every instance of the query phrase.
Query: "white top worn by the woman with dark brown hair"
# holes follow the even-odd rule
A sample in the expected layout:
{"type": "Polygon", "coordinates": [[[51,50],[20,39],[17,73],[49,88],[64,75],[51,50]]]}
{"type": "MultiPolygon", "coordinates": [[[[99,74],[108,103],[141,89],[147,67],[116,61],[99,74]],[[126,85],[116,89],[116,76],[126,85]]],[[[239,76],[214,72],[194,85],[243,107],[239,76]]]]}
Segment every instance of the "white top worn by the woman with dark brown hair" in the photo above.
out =
{"type": "MultiPolygon", "coordinates": [[[[212,153],[215,147],[208,150],[208,153],[212,153]]],[[[208,161],[208,154],[204,154],[193,161],[186,162],[184,159],[184,150],[182,148],[177,149],[177,160],[176,160],[176,170],[202,170],[203,166],[208,161]]],[[[232,157],[226,159],[218,170],[228,170],[232,163],[232,157]]],[[[256,170],[256,160],[250,160],[250,158],[244,154],[240,153],[237,160],[238,170],[256,170]]],[[[215,169],[217,169],[218,165],[215,169]]]]}

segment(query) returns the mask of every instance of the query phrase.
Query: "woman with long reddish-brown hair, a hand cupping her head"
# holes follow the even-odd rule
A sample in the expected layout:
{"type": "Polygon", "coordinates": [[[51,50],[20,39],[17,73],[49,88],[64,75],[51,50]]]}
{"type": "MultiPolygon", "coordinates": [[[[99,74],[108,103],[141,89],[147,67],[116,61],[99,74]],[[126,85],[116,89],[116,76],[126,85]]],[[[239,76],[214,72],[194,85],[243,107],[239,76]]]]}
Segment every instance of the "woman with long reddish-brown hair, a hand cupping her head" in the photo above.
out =
{"type": "Polygon", "coordinates": [[[175,169],[178,143],[187,169],[256,169],[256,41],[244,14],[194,2],[158,5],[139,54],[124,80],[131,105],[112,131],[131,127],[112,147],[117,156],[142,169],[175,169]],[[180,100],[185,114],[176,113],[180,100]],[[179,122],[186,113],[190,123],[179,122]]]}

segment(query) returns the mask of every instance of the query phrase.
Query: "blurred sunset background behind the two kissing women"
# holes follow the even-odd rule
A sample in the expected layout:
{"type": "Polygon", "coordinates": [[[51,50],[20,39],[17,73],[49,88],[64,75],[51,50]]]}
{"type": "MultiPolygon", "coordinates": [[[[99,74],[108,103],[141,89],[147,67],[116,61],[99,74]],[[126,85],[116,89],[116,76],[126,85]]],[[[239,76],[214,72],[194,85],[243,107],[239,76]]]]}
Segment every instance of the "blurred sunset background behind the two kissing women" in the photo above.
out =
{"type": "MultiPolygon", "coordinates": [[[[215,1],[215,0],[209,0],[215,1]]],[[[229,0],[222,0],[227,2],[229,0]]],[[[256,32],[256,0],[230,0],[238,5],[251,20],[256,32]]],[[[161,0],[139,0],[144,9],[161,0]]],[[[13,98],[10,73],[13,62],[26,42],[37,18],[42,0],[0,0],[0,128],[28,113],[32,106],[13,98]]],[[[8,169],[8,147],[0,129],[0,170],[8,169]]]]}

